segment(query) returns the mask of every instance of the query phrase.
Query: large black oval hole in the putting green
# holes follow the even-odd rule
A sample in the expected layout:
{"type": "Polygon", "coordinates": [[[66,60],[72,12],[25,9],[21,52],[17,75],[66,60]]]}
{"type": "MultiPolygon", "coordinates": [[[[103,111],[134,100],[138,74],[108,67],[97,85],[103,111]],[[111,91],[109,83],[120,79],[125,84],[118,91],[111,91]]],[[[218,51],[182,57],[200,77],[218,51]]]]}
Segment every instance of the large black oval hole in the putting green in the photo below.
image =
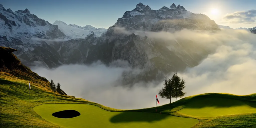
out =
{"type": "Polygon", "coordinates": [[[52,116],[55,116],[57,118],[74,118],[81,115],[78,111],[75,110],[64,110],[52,113],[52,116]]]}

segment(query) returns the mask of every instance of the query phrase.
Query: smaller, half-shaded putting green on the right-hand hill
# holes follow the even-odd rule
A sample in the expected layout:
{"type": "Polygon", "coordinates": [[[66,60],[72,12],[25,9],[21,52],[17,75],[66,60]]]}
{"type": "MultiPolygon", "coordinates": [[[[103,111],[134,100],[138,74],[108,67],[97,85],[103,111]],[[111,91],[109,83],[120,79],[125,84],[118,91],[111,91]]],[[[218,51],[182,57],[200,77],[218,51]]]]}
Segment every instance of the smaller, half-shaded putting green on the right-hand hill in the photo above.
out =
{"type": "Polygon", "coordinates": [[[255,101],[234,99],[206,98],[186,104],[186,107],[178,113],[200,116],[215,117],[240,113],[256,112],[255,101]]]}

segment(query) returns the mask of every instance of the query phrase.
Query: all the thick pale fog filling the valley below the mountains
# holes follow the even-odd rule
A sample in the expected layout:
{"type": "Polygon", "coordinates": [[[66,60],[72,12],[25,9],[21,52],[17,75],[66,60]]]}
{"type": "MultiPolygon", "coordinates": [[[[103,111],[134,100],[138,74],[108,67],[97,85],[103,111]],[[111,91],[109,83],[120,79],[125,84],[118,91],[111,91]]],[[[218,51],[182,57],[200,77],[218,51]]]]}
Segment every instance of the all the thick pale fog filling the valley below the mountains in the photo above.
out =
{"type": "MultiPolygon", "coordinates": [[[[127,33],[123,29],[119,31],[127,33]]],[[[151,32],[147,36],[166,40],[189,39],[214,51],[198,66],[186,69],[185,73],[178,72],[186,82],[185,97],[208,92],[237,95],[256,93],[255,34],[246,30],[224,29],[216,33],[191,30],[176,33],[151,32]]],[[[116,86],[120,84],[122,72],[132,70],[124,63],[116,63],[121,66],[106,67],[101,63],[94,63],[90,66],[64,65],[52,70],[45,68],[32,68],[32,70],[48,80],[60,82],[61,88],[68,95],[117,109],[154,107],[155,95],[162,89],[163,82],[157,86],[156,83],[143,82],[136,83],[132,88],[116,86]]],[[[159,101],[160,105],[169,103],[168,99],[160,97],[159,101]]]]}

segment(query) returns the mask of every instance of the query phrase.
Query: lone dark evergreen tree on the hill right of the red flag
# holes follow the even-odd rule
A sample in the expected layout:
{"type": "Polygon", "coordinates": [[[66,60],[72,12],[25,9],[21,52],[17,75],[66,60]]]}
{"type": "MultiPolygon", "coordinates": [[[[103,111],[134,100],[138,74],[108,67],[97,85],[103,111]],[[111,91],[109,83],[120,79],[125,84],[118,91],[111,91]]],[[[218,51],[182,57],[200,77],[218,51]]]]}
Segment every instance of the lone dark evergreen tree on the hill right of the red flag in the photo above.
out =
{"type": "Polygon", "coordinates": [[[177,97],[182,98],[186,92],[183,92],[183,89],[185,88],[185,81],[180,79],[178,77],[177,73],[173,74],[173,77],[171,79],[166,79],[164,81],[164,87],[162,90],[159,91],[159,95],[162,98],[170,99],[171,103],[171,98],[176,98],[177,97]]]}

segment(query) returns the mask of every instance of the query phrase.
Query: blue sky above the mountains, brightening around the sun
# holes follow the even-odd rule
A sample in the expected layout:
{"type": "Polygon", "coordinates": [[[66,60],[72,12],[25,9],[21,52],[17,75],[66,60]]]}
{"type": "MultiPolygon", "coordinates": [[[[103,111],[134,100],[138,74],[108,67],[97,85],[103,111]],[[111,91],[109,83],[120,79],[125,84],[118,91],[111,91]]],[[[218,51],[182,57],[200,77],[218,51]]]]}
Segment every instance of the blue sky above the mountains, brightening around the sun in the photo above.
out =
{"type": "Polygon", "coordinates": [[[0,2],[4,8],[11,8],[14,12],[19,9],[29,9],[31,14],[54,23],[62,20],[67,24],[79,26],[92,25],[94,27],[108,28],[121,18],[125,11],[130,11],[139,2],[148,5],[151,9],[158,10],[163,6],[170,7],[172,3],[184,6],[193,13],[206,14],[217,24],[237,27],[255,27],[256,23],[235,23],[220,21],[227,13],[256,9],[255,0],[3,0],[0,2]],[[213,15],[211,11],[218,10],[213,15]]]}

